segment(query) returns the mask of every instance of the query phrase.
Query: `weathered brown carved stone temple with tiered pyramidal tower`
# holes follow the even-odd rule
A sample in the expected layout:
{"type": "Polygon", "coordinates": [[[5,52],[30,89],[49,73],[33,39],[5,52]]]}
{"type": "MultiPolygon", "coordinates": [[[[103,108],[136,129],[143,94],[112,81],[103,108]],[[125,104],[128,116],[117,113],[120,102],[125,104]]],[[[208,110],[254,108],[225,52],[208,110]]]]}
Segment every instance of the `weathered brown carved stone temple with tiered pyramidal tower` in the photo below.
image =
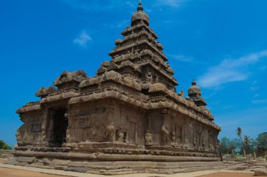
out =
{"type": "Polygon", "coordinates": [[[178,82],[141,2],[95,77],[63,72],[17,110],[8,164],[100,174],[181,173],[223,165],[221,128],[196,81],[178,82]],[[56,87],[54,87],[56,86],[56,87]]]}

